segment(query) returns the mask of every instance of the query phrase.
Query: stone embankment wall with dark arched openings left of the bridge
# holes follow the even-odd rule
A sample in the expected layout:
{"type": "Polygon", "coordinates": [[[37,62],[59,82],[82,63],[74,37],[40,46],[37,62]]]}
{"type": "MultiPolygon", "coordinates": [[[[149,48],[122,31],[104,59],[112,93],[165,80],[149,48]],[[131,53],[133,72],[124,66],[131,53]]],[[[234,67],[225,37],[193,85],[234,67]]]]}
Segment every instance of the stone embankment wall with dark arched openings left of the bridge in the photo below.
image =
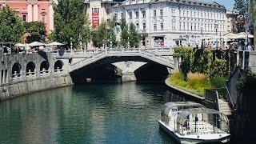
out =
{"type": "Polygon", "coordinates": [[[4,54],[1,51],[0,60],[0,101],[73,85],[69,59],[56,59],[45,52],[4,54]]]}

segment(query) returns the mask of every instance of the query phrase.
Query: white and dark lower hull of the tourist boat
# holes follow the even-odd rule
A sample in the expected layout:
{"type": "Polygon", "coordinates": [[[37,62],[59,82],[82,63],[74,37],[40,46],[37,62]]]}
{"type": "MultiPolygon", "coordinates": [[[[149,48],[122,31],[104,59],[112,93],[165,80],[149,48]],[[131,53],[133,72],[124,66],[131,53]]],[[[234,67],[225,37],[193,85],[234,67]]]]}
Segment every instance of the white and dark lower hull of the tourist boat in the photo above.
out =
{"type": "Polygon", "coordinates": [[[222,142],[226,143],[230,141],[230,134],[226,137],[217,138],[217,139],[202,139],[202,138],[182,138],[181,135],[176,133],[170,127],[167,127],[163,122],[158,121],[159,127],[162,130],[165,130],[167,134],[170,134],[172,138],[174,138],[179,143],[208,143],[208,142],[222,142]]]}

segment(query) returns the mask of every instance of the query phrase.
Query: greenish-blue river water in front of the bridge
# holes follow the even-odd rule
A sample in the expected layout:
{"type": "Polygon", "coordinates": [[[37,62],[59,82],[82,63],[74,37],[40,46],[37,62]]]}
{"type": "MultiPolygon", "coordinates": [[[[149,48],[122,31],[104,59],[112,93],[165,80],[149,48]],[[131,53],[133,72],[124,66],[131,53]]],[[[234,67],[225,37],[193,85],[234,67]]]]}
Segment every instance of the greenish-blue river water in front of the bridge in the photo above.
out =
{"type": "Polygon", "coordinates": [[[68,86],[0,102],[0,143],[174,143],[159,84],[68,86]]]}

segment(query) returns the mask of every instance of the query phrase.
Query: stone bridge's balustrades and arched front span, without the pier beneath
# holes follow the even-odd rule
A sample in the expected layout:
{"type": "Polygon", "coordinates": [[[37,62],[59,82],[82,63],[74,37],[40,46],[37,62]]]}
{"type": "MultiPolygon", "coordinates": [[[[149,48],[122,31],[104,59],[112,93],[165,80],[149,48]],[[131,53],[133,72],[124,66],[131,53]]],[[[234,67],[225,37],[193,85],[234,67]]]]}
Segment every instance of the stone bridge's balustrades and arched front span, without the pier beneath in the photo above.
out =
{"type": "Polygon", "coordinates": [[[90,65],[104,58],[111,58],[112,62],[121,61],[142,61],[156,62],[163,66],[174,69],[174,59],[172,48],[155,49],[91,49],[91,50],[68,50],[54,51],[56,59],[76,59],[70,64],[70,72],[78,70],[83,66],[90,65]]]}

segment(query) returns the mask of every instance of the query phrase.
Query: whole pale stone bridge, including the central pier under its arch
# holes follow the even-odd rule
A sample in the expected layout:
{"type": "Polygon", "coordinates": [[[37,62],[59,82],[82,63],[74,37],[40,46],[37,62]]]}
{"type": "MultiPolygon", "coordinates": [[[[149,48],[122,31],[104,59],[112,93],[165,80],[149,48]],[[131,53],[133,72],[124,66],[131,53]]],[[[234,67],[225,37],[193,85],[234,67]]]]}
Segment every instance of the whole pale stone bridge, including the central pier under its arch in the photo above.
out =
{"type": "Polygon", "coordinates": [[[83,73],[91,65],[113,64],[122,70],[122,81],[126,82],[135,81],[134,71],[147,63],[165,66],[169,71],[174,69],[173,53],[172,48],[90,49],[54,51],[53,56],[60,61],[69,59],[69,72],[74,75],[83,73]]]}

